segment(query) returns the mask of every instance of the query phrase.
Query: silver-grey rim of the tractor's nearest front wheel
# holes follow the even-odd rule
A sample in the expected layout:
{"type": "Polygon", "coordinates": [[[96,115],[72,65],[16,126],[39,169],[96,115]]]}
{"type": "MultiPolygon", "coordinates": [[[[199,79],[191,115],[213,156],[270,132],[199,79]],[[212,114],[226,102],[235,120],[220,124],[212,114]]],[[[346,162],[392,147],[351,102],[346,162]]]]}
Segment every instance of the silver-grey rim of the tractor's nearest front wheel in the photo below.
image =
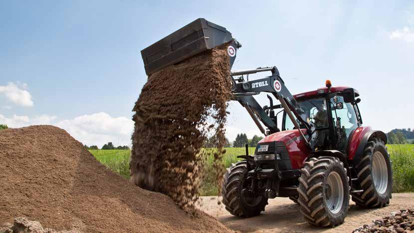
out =
{"type": "Polygon", "coordinates": [[[337,172],[328,175],[325,185],[325,201],[328,210],[337,214],[342,209],[344,202],[344,185],[341,176],[337,172]]]}

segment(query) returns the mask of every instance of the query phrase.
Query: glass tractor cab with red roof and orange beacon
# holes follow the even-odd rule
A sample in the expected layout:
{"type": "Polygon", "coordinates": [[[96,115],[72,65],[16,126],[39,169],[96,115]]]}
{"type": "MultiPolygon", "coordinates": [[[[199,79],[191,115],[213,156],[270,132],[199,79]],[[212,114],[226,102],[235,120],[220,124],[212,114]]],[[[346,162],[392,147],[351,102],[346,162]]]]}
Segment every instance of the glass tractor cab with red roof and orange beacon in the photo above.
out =
{"type": "MultiPolygon", "coordinates": [[[[330,81],[327,84],[329,86],[330,81]]],[[[306,120],[314,125],[315,150],[336,149],[347,154],[349,138],[362,124],[360,99],[355,100],[358,96],[357,90],[348,87],[325,87],[293,96],[305,112],[306,120]]],[[[282,112],[281,130],[296,129],[282,112]]],[[[295,120],[302,128],[303,124],[296,117],[295,120]]]]}

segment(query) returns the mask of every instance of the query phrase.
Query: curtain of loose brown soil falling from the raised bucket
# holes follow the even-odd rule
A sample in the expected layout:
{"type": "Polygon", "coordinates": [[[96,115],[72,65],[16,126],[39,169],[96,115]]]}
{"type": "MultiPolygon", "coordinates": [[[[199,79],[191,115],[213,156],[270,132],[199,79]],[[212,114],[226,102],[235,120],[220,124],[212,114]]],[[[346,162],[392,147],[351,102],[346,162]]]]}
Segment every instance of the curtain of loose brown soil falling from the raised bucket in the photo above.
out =
{"type": "Polygon", "coordinates": [[[204,161],[200,151],[208,133],[215,135],[219,147],[214,157],[221,180],[231,89],[226,47],[150,75],[133,109],[131,179],[142,188],[169,195],[181,207],[193,207],[198,198],[204,161]]]}

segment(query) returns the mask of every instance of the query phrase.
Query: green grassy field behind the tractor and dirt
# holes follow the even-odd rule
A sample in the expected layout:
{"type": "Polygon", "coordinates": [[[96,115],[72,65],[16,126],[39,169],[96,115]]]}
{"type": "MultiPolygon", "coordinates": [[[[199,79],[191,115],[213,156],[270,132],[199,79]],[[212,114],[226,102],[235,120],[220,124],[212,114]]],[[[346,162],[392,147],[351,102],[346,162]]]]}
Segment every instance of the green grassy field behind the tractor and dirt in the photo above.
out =
{"type": "MultiPolygon", "coordinates": [[[[394,192],[414,192],[414,144],[387,145],[393,161],[394,192]]],[[[239,160],[237,155],[245,154],[244,148],[225,148],[223,156],[224,166],[239,160]]],[[[101,163],[126,179],[129,178],[129,154],[130,150],[89,150],[101,163]]],[[[254,148],[249,148],[253,154],[254,148]]],[[[217,195],[217,187],[214,185],[214,172],[212,169],[212,156],[207,158],[202,196],[217,195]]]]}

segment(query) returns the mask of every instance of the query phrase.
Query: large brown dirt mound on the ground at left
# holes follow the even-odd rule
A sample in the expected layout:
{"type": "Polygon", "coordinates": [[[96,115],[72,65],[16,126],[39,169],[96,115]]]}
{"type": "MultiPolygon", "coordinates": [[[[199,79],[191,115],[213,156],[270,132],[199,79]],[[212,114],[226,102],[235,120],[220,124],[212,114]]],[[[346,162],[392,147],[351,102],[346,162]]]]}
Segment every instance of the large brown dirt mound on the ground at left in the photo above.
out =
{"type": "Polygon", "coordinates": [[[131,184],[54,126],[1,130],[0,168],[0,224],[24,217],[56,231],[228,231],[131,184]]]}

